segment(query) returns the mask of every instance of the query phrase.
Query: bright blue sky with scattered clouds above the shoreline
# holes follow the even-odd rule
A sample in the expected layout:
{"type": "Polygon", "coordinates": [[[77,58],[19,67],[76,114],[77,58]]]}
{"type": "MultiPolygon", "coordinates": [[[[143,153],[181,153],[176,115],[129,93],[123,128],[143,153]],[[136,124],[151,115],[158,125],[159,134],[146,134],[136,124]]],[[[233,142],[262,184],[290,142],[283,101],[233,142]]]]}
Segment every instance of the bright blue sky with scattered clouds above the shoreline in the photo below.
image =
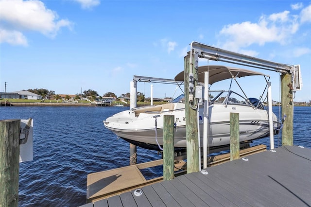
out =
{"type": "MultiPolygon", "coordinates": [[[[303,87],[294,101],[311,100],[306,0],[0,0],[0,91],[7,82],[7,92],[82,88],[120,96],[133,75],[173,79],[192,41],[300,64],[303,87]]],[[[279,73],[259,71],[271,76],[272,98],[280,100],[279,73]]],[[[175,86],[153,85],[154,97],[173,96],[175,86]]],[[[138,83],[138,91],[150,97],[150,84],[138,83]]]]}

